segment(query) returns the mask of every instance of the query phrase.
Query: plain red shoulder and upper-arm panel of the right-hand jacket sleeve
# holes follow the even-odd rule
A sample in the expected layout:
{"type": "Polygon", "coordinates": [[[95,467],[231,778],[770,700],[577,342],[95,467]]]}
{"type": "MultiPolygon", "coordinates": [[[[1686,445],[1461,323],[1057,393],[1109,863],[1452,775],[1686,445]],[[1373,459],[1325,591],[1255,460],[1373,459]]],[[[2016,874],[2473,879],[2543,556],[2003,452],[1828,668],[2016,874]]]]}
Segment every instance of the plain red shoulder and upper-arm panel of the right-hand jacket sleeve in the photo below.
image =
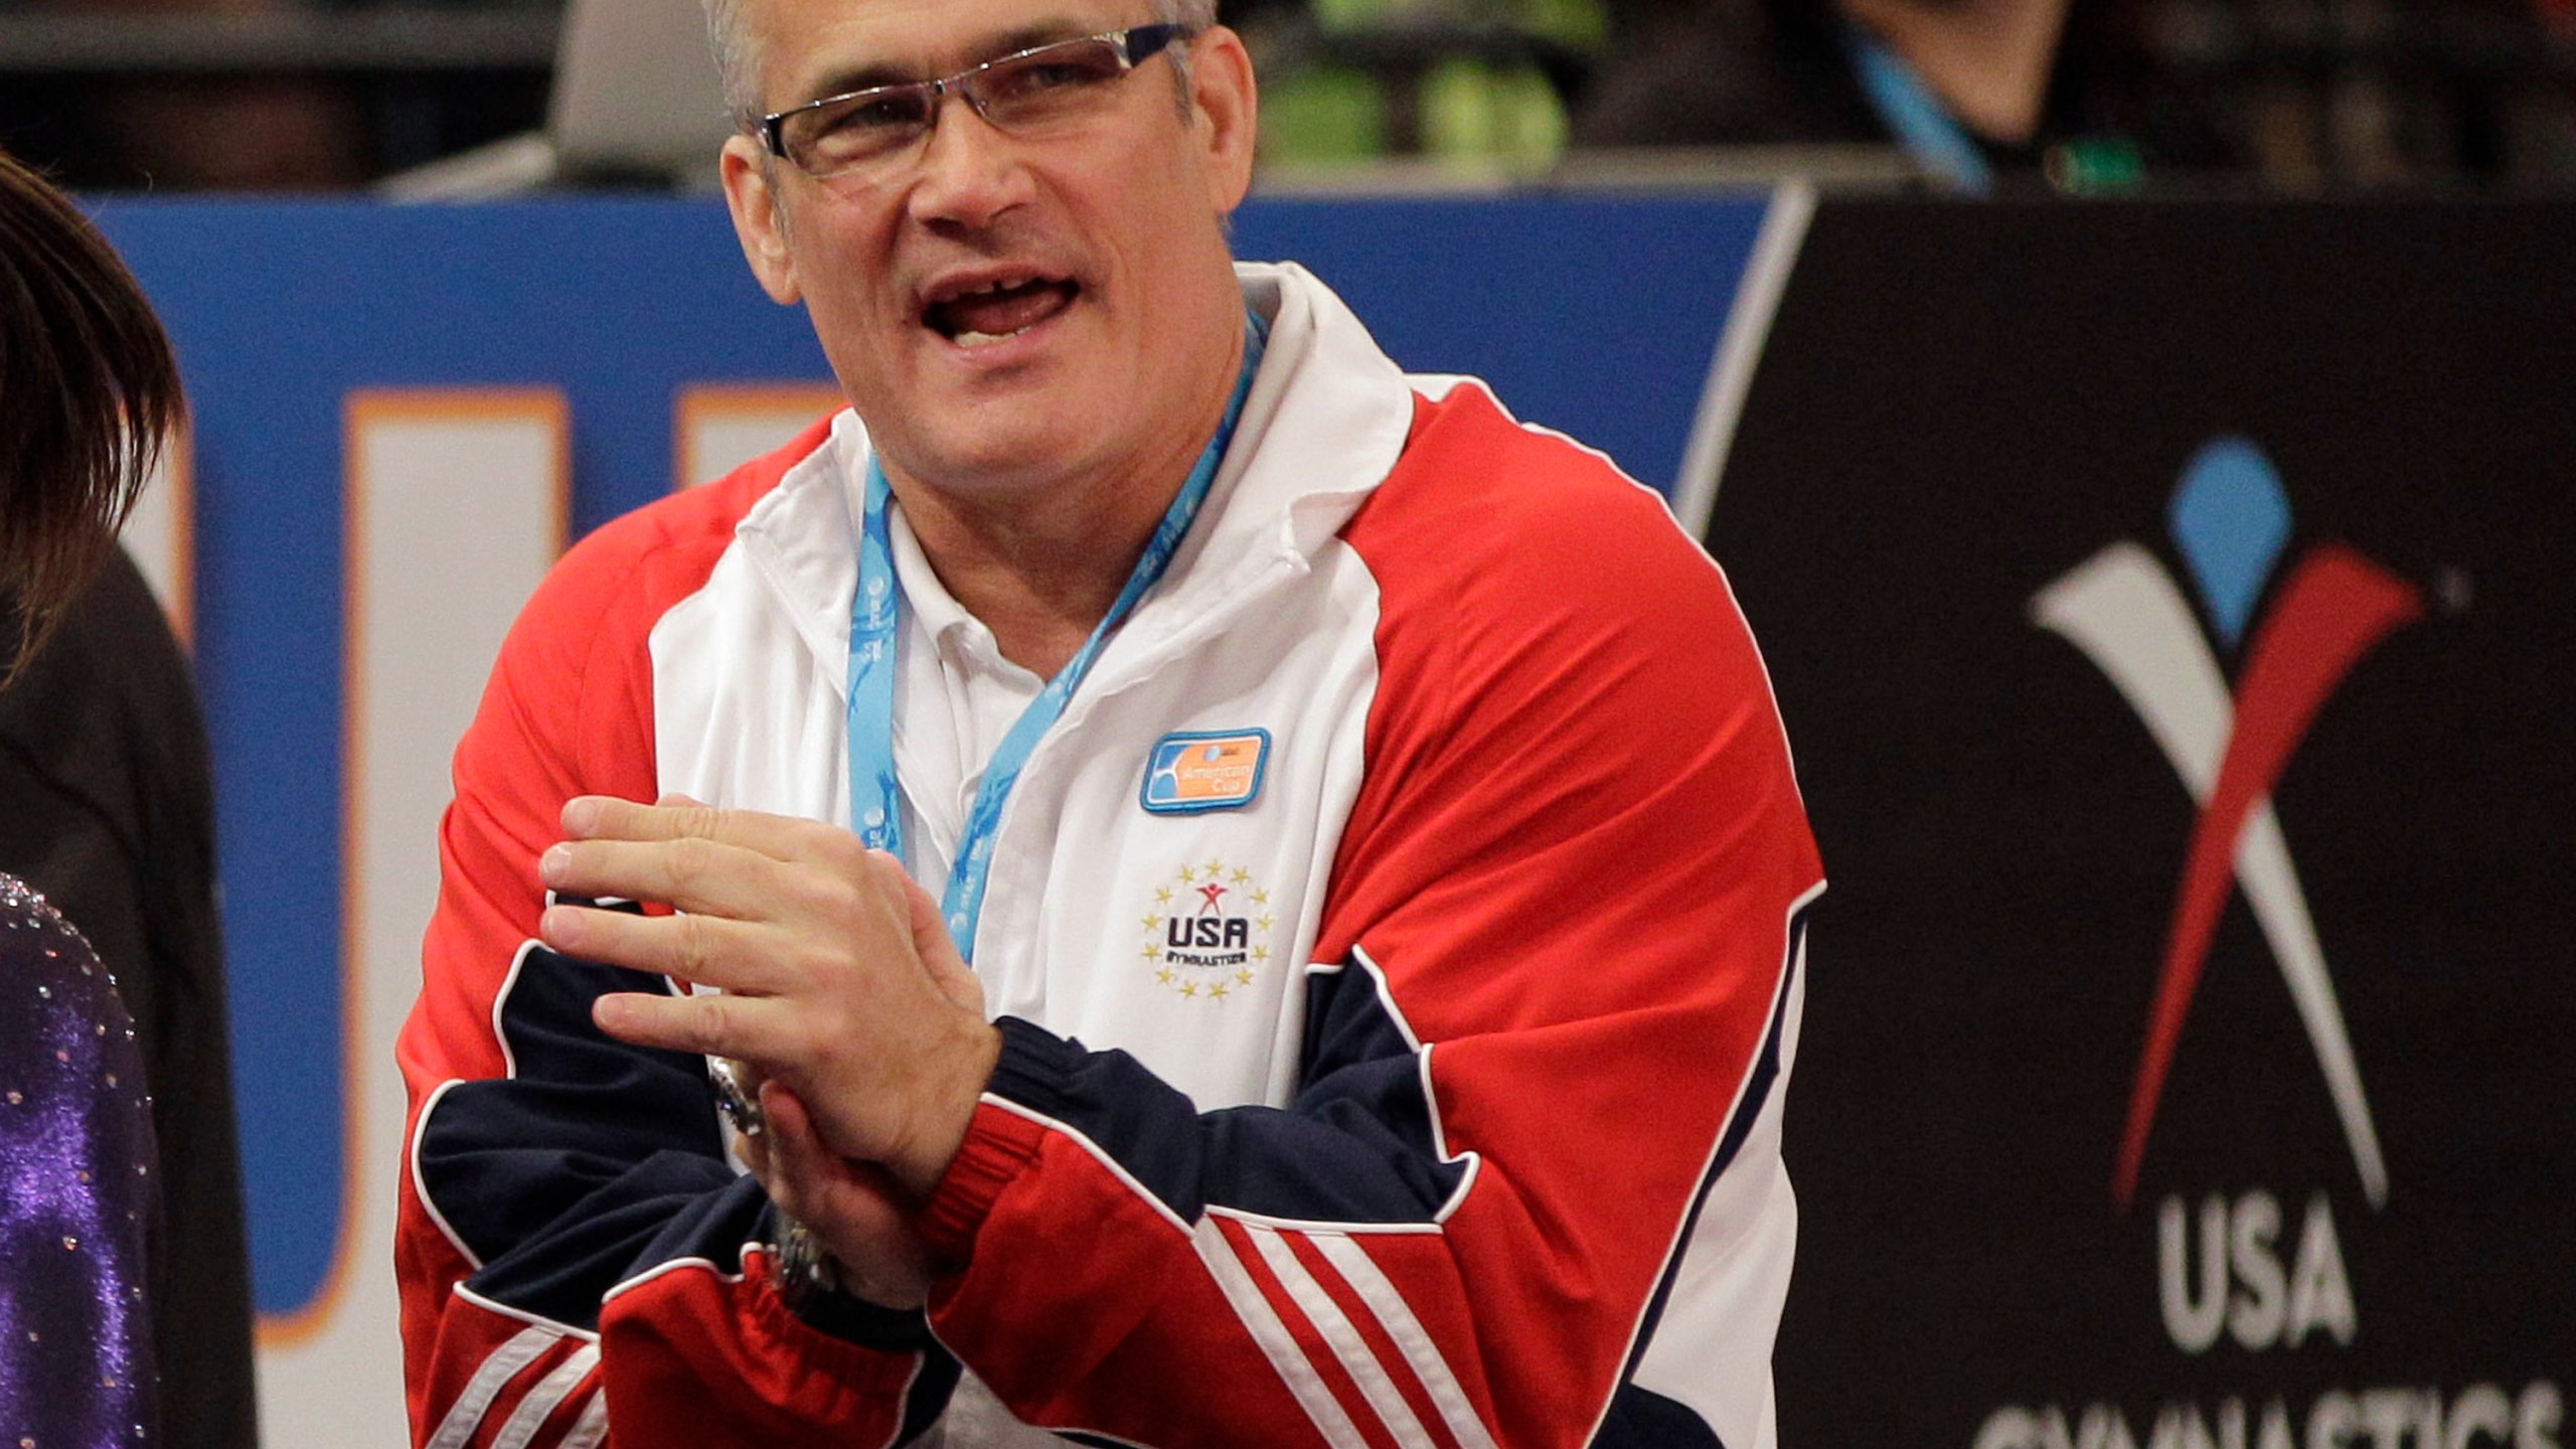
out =
{"type": "Polygon", "coordinates": [[[1383,972],[1479,1160],[1437,1240],[1370,1256],[1499,1441],[1579,1441],[1775,1085],[1821,864],[1723,575],[1607,462],[1463,387],[1347,539],[1381,683],[1316,957],[1383,972]]]}

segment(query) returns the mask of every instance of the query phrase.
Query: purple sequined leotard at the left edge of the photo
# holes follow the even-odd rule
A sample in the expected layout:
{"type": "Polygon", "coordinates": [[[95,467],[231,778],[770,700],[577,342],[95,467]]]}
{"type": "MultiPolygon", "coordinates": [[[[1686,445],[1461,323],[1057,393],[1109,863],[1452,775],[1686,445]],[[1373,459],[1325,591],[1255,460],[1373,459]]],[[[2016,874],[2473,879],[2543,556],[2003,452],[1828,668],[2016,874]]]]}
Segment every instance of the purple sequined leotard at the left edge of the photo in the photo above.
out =
{"type": "Polygon", "coordinates": [[[0,1449],[152,1441],[149,1163],[116,980],[0,874],[0,1449]]]}

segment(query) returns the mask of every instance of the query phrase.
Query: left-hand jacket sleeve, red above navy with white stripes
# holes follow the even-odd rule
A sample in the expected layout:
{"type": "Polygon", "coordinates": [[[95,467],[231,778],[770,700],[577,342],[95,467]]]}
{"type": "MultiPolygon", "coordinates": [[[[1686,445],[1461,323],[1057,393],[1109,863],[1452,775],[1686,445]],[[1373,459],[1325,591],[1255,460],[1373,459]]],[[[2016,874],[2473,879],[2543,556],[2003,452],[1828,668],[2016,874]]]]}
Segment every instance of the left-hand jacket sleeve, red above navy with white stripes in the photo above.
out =
{"type": "Polygon", "coordinates": [[[907,1390],[953,1377],[920,1343],[850,1343],[778,1307],[757,1248],[773,1212],[724,1158],[703,1060],[590,1026],[600,995],[670,982],[536,944],[536,859],[562,838],[562,804],[657,794],[654,621],[822,436],[574,547],[456,748],[438,913],[397,1044],[415,1444],[886,1444],[907,1390]]]}

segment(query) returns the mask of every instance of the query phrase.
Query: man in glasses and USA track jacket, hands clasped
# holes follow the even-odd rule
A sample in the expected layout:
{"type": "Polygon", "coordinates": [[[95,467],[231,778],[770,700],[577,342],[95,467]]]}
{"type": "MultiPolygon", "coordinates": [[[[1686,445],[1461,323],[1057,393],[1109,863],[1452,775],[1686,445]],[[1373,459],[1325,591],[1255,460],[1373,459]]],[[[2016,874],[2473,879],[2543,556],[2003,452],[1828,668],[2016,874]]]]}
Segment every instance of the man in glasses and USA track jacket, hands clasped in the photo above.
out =
{"type": "Polygon", "coordinates": [[[853,410],[585,539],[459,748],[417,1439],[1770,1439],[1762,665],[1651,492],[1234,268],[1211,21],[719,8],[853,410]]]}

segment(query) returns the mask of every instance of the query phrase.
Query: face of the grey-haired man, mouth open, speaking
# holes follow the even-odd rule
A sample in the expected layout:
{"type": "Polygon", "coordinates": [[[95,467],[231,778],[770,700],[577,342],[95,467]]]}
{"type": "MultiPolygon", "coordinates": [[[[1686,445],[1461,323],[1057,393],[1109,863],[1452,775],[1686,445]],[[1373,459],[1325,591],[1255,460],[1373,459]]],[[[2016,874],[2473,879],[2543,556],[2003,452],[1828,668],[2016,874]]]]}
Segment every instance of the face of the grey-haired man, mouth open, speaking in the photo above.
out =
{"type": "MultiPolygon", "coordinates": [[[[762,111],[961,72],[1154,21],[1146,0],[747,0],[762,111]]],[[[889,472],[963,495],[1167,469],[1234,376],[1221,217],[1249,183],[1252,72],[1231,31],[1108,85],[1097,121],[1020,139],[963,98],[881,170],[814,180],[726,144],[762,286],[804,299],[889,472]]]]}

